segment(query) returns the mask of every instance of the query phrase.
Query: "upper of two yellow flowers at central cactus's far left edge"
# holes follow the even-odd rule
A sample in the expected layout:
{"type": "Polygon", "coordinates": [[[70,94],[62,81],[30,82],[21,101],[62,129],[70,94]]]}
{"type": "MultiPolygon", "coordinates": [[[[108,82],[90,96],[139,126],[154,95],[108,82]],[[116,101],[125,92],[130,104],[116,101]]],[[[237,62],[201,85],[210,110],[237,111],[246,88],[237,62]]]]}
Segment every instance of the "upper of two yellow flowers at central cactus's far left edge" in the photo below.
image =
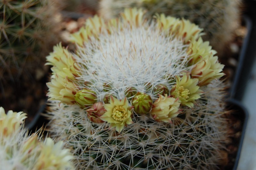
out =
{"type": "Polygon", "coordinates": [[[46,57],[47,63],[45,65],[51,65],[52,72],[59,76],[74,79],[78,73],[78,66],[72,56],[72,54],[65,48],[59,45],[53,47],[53,52],[46,57]]]}

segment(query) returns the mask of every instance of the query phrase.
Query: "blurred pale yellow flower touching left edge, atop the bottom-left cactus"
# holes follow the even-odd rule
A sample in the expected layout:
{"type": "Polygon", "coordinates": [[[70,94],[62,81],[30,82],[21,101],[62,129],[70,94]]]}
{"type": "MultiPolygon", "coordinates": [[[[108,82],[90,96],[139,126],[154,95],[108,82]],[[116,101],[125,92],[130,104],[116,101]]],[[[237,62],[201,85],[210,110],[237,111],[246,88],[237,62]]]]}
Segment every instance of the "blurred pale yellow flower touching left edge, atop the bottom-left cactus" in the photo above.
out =
{"type": "MultiPolygon", "coordinates": [[[[26,113],[17,113],[10,110],[7,112],[7,114],[5,114],[4,108],[0,107],[0,136],[9,136],[17,133],[20,125],[26,118],[26,113]]],[[[0,140],[2,137],[0,137],[0,140]]]]}

